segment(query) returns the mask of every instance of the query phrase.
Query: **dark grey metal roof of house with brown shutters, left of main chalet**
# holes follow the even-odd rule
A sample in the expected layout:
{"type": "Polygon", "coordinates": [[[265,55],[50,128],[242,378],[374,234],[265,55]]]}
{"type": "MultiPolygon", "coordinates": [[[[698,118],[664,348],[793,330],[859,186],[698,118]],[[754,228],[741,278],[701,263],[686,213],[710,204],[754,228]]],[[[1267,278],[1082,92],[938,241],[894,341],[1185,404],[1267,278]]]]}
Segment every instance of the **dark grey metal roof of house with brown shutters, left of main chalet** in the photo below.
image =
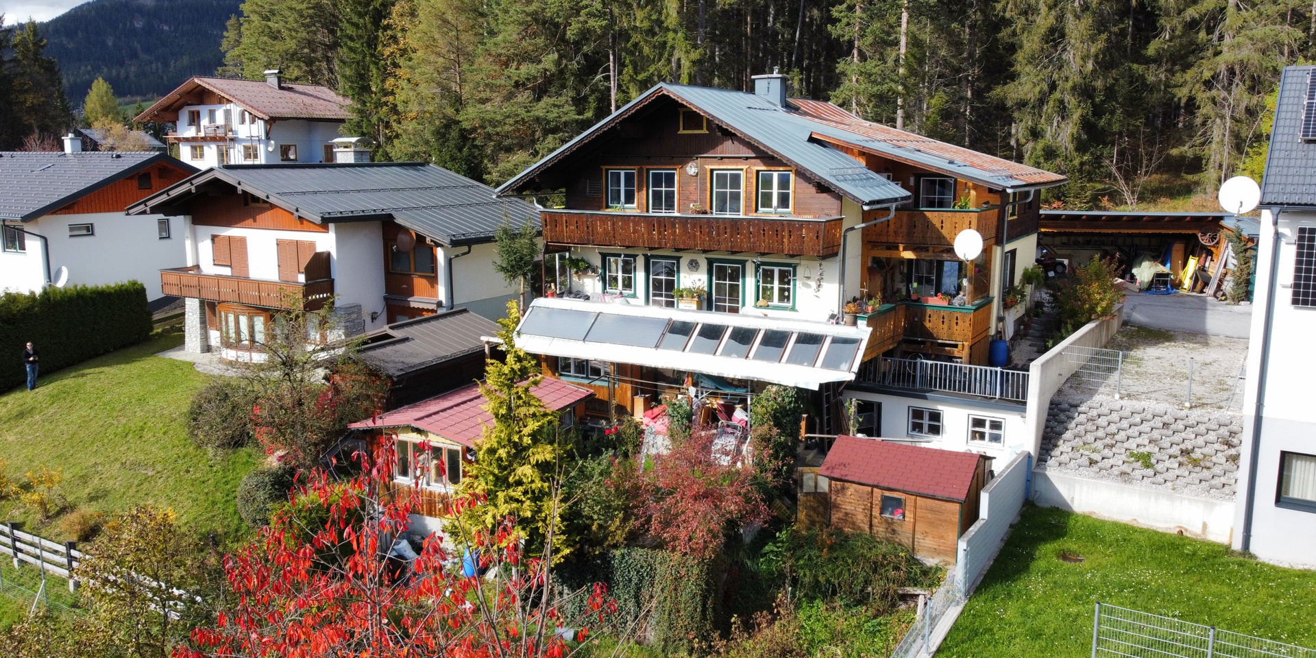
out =
{"type": "Polygon", "coordinates": [[[422,162],[225,164],[130,205],[129,213],[187,204],[213,180],[318,224],[391,218],[443,246],[488,242],[504,222],[540,228],[534,205],[495,199],[488,186],[422,162]]]}

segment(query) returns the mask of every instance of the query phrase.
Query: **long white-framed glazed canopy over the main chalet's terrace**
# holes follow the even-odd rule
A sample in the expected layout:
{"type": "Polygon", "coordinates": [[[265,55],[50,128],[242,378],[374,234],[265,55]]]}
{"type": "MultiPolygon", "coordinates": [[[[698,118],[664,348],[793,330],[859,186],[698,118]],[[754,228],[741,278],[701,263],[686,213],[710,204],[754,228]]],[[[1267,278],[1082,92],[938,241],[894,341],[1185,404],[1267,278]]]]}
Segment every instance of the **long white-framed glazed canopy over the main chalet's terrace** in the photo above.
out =
{"type": "Polygon", "coordinates": [[[867,326],[557,297],[530,303],[516,334],[533,354],[812,390],[854,379],[867,341],[867,326]]]}

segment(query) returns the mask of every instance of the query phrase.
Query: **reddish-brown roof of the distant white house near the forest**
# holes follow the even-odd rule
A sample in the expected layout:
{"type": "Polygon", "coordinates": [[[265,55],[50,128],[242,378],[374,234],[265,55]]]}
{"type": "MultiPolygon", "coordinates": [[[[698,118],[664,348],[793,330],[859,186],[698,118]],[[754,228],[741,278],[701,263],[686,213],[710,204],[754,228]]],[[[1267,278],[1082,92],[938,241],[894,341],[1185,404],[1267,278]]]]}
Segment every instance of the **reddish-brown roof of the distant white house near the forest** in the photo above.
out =
{"type": "Polygon", "coordinates": [[[259,118],[318,118],[346,121],[350,100],[337,95],[329,87],[318,84],[282,83],[275,89],[265,80],[236,80],[232,78],[192,78],[176,89],[164,95],[154,105],[142,112],[137,121],[159,121],[176,114],[191,103],[190,93],[205,88],[224,96],[259,118]],[[162,116],[166,114],[166,116],[162,116]]]}

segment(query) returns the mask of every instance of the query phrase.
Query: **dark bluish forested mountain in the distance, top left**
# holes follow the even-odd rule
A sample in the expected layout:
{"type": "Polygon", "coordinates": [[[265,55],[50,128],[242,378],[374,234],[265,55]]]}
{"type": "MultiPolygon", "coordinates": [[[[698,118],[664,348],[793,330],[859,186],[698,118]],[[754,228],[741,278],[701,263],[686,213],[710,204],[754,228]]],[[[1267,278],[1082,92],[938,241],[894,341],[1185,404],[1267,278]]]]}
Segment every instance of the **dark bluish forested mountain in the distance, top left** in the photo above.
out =
{"type": "Polygon", "coordinates": [[[154,100],[224,63],[220,41],[241,0],[93,0],[42,24],[64,91],[82,105],[96,76],[120,99],[154,100]]]}

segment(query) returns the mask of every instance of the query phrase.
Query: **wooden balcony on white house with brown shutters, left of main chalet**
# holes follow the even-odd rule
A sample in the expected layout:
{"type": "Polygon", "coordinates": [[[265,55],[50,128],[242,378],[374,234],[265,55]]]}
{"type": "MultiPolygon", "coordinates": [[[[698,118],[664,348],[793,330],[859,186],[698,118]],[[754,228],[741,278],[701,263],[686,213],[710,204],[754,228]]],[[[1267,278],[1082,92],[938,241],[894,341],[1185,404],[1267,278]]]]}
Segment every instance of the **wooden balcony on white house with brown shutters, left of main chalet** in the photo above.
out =
{"type": "Polygon", "coordinates": [[[249,307],[293,308],[300,305],[307,311],[324,307],[325,301],[333,296],[333,279],[288,283],[200,274],[199,270],[197,266],[161,270],[162,292],[175,297],[228,301],[249,307]]]}

